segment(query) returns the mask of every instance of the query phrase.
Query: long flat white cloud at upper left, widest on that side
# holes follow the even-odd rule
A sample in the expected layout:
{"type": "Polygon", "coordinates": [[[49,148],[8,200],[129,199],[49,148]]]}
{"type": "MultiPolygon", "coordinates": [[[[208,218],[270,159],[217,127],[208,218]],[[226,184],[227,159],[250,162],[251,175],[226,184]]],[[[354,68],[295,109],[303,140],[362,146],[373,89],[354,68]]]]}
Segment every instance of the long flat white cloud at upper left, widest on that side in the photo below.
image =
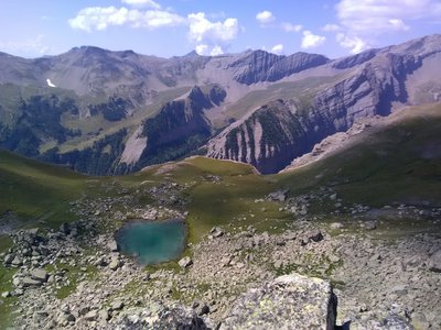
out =
{"type": "Polygon", "coordinates": [[[74,19],[68,20],[68,23],[73,29],[90,32],[126,24],[148,29],[178,26],[184,24],[185,19],[163,10],[140,11],[125,7],[88,7],[82,9],[74,19]]]}

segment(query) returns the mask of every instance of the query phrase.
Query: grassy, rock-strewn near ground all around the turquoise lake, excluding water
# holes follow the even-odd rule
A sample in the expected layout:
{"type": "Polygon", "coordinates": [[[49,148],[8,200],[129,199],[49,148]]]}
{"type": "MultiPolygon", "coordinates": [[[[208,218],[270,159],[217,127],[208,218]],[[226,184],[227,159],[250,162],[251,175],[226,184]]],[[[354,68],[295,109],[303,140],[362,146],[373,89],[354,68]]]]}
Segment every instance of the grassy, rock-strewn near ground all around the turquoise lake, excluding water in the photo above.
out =
{"type": "Polygon", "coordinates": [[[241,294],[295,272],[333,285],[341,327],[437,329],[440,127],[439,103],[404,108],[272,175],[192,156],[87,176],[2,150],[0,327],[229,329],[252,321],[241,294]],[[115,233],[140,219],[183,219],[183,254],[122,254],[115,233]]]}

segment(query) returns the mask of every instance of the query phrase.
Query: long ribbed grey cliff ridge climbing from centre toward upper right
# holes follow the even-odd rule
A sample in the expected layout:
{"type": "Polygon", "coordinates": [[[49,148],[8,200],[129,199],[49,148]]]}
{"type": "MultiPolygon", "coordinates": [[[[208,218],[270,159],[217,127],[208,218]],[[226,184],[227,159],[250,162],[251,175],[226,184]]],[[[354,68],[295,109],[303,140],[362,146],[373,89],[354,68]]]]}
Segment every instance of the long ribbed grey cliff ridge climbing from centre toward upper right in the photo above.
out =
{"type": "MultiPolygon", "coordinates": [[[[357,61],[348,58],[347,65],[357,61]]],[[[306,105],[293,96],[260,107],[209,141],[207,155],[249,163],[263,174],[278,172],[358,118],[387,116],[392,103],[405,105],[406,79],[421,65],[421,55],[378,54],[306,105]]]]}

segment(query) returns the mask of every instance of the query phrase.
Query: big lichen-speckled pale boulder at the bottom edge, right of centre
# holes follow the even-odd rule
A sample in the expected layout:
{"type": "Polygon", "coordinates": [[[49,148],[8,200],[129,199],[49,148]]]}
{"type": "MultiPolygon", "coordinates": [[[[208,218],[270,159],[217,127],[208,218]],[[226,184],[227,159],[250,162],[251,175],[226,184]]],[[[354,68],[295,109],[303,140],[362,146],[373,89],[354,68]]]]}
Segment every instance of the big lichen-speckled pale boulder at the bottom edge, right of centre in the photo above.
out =
{"type": "Polygon", "coordinates": [[[336,305],[329,282],[299,274],[283,275],[240,296],[220,330],[333,330],[336,305]]]}

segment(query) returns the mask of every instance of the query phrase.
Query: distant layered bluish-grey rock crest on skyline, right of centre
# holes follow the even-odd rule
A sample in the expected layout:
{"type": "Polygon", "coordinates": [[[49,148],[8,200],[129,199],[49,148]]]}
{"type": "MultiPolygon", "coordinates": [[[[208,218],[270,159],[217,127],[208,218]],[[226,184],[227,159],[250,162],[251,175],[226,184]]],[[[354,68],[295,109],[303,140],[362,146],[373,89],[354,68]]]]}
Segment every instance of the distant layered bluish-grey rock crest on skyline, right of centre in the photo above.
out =
{"type": "Polygon", "coordinates": [[[295,53],[279,56],[265,51],[247,53],[229,65],[234,69],[234,79],[240,84],[251,85],[259,81],[276,81],[304,69],[325,64],[323,55],[295,53]]]}

